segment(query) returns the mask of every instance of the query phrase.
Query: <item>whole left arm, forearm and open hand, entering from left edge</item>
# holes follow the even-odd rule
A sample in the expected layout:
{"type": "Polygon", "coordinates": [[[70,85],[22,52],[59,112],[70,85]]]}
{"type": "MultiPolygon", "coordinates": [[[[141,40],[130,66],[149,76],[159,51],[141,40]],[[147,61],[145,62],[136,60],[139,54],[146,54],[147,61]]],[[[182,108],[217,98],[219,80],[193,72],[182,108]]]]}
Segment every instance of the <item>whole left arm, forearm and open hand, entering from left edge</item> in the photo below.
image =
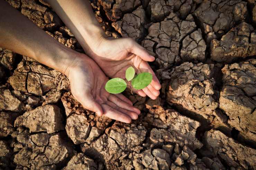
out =
{"type": "Polygon", "coordinates": [[[0,47],[65,74],[84,108],[126,123],[138,118],[140,111],[129,99],[104,89],[108,78],[91,58],[65,47],[5,1],[0,1],[0,23],[0,47]]]}

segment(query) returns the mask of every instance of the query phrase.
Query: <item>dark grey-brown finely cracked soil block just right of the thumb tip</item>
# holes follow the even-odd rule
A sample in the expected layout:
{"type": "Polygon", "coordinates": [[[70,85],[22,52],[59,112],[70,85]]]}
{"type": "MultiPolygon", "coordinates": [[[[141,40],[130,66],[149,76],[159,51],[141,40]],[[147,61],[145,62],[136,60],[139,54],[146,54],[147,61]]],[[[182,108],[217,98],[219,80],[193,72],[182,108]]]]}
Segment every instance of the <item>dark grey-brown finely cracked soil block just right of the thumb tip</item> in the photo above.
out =
{"type": "Polygon", "coordinates": [[[206,44],[191,14],[181,20],[171,12],[164,21],[152,23],[141,44],[157,58],[156,63],[162,68],[182,61],[205,60],[206,44]]]}

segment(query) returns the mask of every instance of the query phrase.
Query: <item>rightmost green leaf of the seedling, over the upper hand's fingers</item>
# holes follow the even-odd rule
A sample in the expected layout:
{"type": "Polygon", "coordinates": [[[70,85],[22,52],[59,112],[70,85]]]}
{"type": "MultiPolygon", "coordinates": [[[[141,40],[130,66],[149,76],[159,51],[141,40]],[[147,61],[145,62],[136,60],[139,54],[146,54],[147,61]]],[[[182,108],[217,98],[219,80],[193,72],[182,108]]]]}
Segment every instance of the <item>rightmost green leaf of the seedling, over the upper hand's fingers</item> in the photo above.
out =
{"type": "Polygon", "coordinates": [[[131,81],[131,85],[133,88],[140,90],[147,87],[152,81],[152,74],[148,72],[139,73],[138,76],[136,76],[131,81]]]}

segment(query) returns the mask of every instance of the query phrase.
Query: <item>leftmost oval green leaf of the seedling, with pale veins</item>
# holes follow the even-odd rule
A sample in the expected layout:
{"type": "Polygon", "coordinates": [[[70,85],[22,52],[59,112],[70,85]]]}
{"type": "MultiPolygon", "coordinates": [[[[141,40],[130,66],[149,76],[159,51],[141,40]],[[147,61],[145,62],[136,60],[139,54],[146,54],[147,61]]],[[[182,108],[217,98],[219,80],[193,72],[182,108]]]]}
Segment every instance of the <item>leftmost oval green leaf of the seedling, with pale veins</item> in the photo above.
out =
{"type": "Polygon", "coordinates": [[[107,92],[113,93],[113,94],[123,92],[126,89],[126,87],[127,87],[127,84],[125,80],[120,78],[110,79],[105,85],[105,89],[107,90],[107,92]]]}

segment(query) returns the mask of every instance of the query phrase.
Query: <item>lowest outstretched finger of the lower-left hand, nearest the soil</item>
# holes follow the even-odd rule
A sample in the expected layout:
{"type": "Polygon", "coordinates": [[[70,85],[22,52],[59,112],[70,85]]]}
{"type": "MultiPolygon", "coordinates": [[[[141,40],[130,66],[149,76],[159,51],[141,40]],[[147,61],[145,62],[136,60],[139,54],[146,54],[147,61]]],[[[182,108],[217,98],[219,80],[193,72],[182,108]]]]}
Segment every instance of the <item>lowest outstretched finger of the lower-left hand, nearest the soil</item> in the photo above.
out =
{"type": "Polygon", "coordinates": [[[102,109],[104,116],[107,116],[110,119],[115,119],[125,123],[131,122],[131,118],[127,114],[121,113],[120,111],[113,109],[107,104],[102,104],[102,109]]]}

